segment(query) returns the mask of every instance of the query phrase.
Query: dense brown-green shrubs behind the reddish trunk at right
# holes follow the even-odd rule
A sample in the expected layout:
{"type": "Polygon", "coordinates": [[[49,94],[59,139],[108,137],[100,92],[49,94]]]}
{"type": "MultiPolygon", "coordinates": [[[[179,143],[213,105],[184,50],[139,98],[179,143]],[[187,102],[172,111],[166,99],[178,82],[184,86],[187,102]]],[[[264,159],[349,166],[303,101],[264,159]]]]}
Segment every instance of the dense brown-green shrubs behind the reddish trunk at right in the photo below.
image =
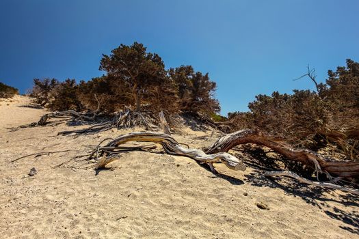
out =
{"type": "Polygon", "coordinates": [[[329,71],[319,92],[294,90],[258,95],[249,112],[229,113],[232,130],[252,128],[280,137],[297,146],[327,151],[336,158],[356,160],[359,156],[359,64],[329,71]]]}

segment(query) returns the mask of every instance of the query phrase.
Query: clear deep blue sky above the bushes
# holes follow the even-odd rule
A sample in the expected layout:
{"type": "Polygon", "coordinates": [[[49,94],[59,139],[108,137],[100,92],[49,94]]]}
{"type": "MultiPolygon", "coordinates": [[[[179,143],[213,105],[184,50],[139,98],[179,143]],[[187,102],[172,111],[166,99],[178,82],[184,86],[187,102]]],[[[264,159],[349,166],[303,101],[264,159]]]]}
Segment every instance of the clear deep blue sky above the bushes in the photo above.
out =
{"type": "Polygon", "coordinates": [[[247,111],[256,94],[314,89],[292,81],[307,64],[359,61],[359,1],[0,0],[0,81],[101,76],[101,54],[141,42],[166,68],[190,64],[217,82],[222,114],[247,111]]]}

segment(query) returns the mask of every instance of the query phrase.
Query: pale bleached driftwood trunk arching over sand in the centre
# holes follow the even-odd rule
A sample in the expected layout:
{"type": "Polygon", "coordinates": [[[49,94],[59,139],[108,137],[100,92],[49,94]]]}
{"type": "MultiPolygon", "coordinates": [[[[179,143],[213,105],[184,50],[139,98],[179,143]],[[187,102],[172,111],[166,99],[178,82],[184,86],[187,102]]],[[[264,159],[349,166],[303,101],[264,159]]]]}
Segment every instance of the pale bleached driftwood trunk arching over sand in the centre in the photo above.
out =
{"type": "Polygon", "coordinates": [[[108,163],[116,160],[118,146],[129,141],[146,141],[159,143],[167,154],[187,156],[197,160],[199,163],[224,163],[228,168],[233,170],[245,170],[245,165],[241,161],[226,152],[219,152],[216,154],[206,154],[202,150],[186,149],[170,135],[165,135],[157,132],[133,132],[127,135],[122,135],[110,141],[105,146],[98,146],[89,158],[98,159],[96,169],[105,167],[108,163]]]}

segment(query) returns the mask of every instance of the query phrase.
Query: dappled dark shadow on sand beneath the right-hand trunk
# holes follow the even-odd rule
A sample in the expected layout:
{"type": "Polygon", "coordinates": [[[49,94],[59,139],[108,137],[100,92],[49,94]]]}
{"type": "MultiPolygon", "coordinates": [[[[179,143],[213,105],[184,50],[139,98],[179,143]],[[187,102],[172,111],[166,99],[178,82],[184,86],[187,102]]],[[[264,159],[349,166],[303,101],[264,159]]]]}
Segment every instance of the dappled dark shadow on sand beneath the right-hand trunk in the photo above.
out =
{"type": "Polygon", "coordinates": [[[267,178],[264,176],[265,171],[278,170],[277,167],[269,168],[272,160],[267,156],[262,158],[250,156],[250,158],[242,158],[243,163],[254,169],[253,173],[245,175],[245,182],[253,186],[267,186],[270,188],[281,188],[284,193],[300,197],[306,203],[318,207],[323,210],[330,218],[345,223],[340,226],[342,229],[350,231],[353,234],[359,234],[359,203],[358,196],[347,194],[336,194],[333,189],[321,188],[316,186],[308,186],[296,180],[289,178],[267,178]],[[265,163],[263,163],[265,162],[265,163]],[[324,194],[325,193],[325,194],[324,194]],[[333,197],[328,196],[333,195],[333,197]],[[345,206],[345,210],[333,206],[333,203],[345,206]]]}

